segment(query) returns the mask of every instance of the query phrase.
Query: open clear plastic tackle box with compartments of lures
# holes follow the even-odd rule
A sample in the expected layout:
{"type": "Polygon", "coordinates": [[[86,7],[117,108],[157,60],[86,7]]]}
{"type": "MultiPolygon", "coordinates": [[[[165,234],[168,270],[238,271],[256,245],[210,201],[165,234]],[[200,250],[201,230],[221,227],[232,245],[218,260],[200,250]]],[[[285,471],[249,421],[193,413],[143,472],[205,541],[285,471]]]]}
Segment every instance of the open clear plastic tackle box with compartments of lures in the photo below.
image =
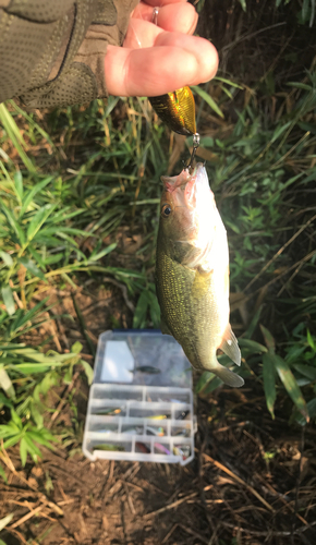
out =
{"type": "Polygon", "coordinates": [[[90,460],[180,462],[194,458],[191,365],[156,330],[99,337],[83,452],[90,460]]]}

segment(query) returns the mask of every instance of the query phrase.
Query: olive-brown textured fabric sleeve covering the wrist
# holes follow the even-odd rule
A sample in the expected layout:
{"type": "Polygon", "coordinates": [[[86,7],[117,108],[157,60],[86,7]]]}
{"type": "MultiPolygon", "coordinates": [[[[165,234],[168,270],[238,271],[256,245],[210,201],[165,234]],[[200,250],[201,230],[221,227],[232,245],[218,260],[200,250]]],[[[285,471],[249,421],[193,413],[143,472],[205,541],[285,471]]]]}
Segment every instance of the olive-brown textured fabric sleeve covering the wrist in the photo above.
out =
{"type": "Polygon", "coordinates": [[[138,0],[0,0],[0,102],[28,108],[107,97],[105,55],[138,0]]]}

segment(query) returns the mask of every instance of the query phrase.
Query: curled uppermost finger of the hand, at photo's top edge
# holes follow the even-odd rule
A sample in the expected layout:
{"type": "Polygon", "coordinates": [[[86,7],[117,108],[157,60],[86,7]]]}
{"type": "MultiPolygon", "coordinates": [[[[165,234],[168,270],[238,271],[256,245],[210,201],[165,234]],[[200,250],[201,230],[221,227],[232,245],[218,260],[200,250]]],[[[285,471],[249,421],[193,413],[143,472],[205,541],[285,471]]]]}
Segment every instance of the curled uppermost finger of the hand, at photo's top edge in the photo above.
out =
{"type": "MultiPolygon", "coordinates": [[[[154,9],[141,2],[134,10],[132,19],[153,22],[154,9]]],[[[158,10],[157,25],[168,32],[193,34],[197,25],[198,15],[194,7],[186,2],[177,2],[163,5],[158,10]]]]}

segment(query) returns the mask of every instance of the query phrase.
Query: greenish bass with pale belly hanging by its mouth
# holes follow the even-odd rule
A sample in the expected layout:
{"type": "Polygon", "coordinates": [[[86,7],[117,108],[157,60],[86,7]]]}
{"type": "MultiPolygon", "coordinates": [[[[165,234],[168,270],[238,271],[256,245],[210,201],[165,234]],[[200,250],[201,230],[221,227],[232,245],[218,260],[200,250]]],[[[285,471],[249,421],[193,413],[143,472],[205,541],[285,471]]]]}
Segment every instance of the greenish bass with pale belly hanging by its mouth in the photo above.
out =
{"type": "Polygon", "coordinates": [[[156,287],[161,331],[172,335],[197,370],[229,386],[244,380],[217,360],[220,348],[235,364],[241,352],[229,323],[229,251],[204,165],[161,178],[156,287]]]}

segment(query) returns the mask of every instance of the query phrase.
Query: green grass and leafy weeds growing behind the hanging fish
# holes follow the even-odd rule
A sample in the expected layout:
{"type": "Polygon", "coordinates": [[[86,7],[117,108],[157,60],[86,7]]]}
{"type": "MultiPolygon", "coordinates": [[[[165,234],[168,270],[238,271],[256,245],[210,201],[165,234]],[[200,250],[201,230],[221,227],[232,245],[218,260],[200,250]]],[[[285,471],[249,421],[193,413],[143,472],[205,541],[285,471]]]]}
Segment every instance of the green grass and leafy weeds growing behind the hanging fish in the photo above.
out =
{"type": "MultiPolygon", "coordinates": [[[[265,392],[272,417],[285,411],[300,425],[316,416],[315,87],[315,73],[288,82],[274,116],[251,99],[235,107],[235,122],[228,109],[244,93],[240,82],[218,77],[196,93],[200,147],[212,153],[207,170],[229,234],[231,287],[248,305],[241,374],[265,392]],[[217,98],[207,99],[207,89],[217,98]],[[223,124],[209,130],[205,116],[218,110],[223,124]]],[[[59,354],[21,342],[47,319],[47,300],[34,305],[42,286],[112,277],[135,306],[130,325],[159,327],[153,271],[159,179],[171,146],[145,99],[96,100],[41,121],[9,102],[0,123],[0,438],[4,448],[20,444],[25,463],[54,440],[45,420],[49,390],[69,384],[75,366],[92,378],[77,343],[59,354]],[[123,228],[142,239],[132,256],[118,244],[123,228]]],[[[179,160],[174,171],[181,168],[179,160]]],[[[240,322],[238,310],[232,318],[240,322]]],[[[219,384],[205,373],[196,391],[219,384]]]]}

